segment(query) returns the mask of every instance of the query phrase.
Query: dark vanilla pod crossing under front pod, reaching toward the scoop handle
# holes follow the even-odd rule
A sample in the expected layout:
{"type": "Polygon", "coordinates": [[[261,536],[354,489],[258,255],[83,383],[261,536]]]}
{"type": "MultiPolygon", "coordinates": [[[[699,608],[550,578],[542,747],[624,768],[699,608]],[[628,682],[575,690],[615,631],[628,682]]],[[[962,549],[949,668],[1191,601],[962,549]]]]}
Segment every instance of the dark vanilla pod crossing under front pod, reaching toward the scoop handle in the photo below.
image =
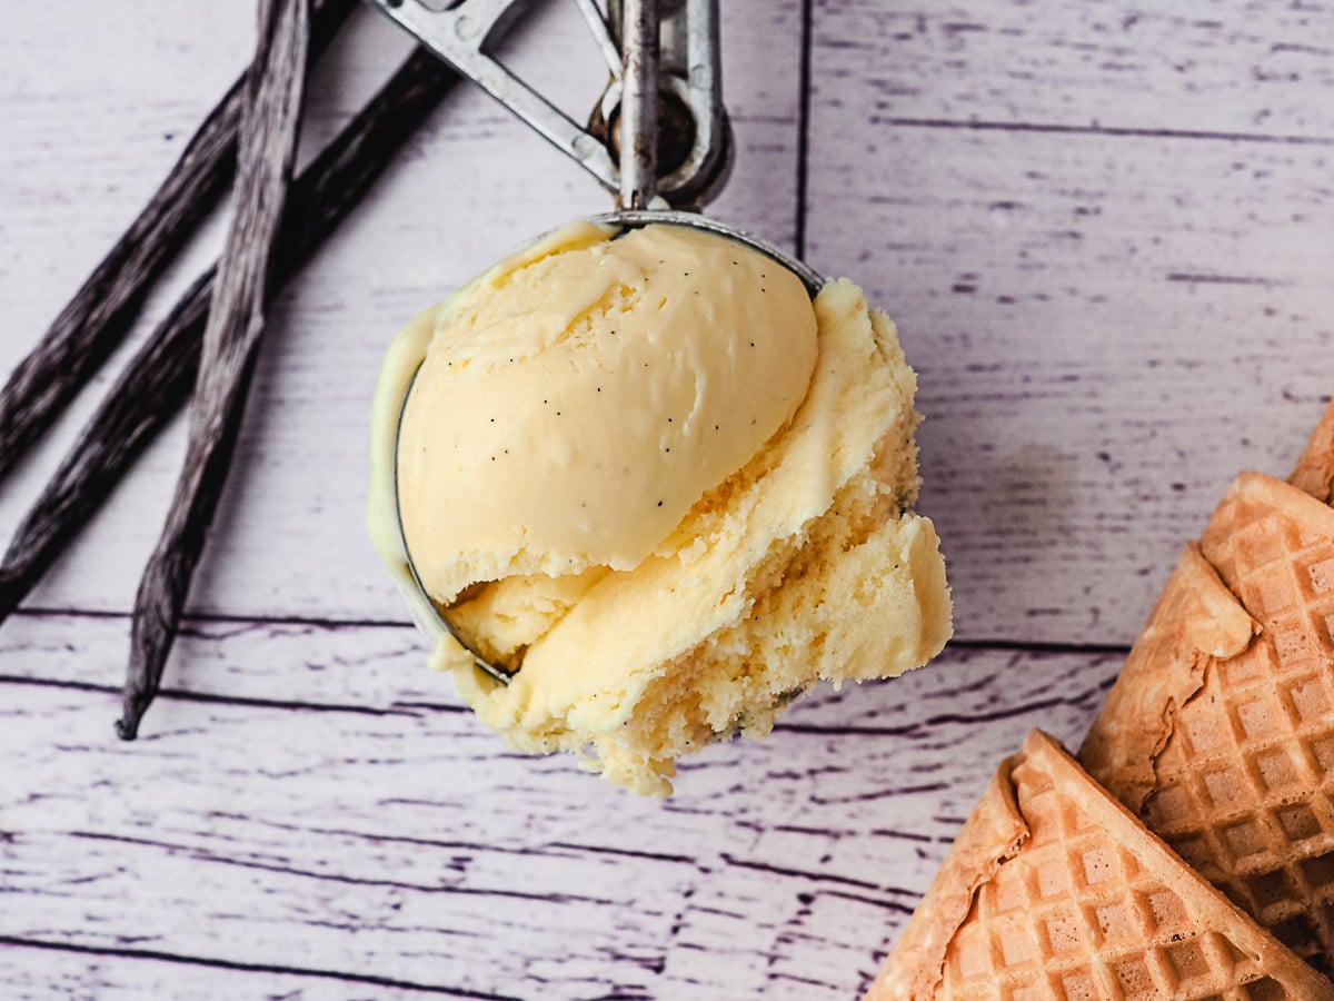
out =
{"type": "MultiPolygon", "coordinates": [[[[334,232],[458,80],[416,49],[301,174],[288,192],[271,291],[334,232]]],[[[0,562],[0,622],[189,398],[215,272],[201,275],[147,339],[19,526],[0,562]]]]}

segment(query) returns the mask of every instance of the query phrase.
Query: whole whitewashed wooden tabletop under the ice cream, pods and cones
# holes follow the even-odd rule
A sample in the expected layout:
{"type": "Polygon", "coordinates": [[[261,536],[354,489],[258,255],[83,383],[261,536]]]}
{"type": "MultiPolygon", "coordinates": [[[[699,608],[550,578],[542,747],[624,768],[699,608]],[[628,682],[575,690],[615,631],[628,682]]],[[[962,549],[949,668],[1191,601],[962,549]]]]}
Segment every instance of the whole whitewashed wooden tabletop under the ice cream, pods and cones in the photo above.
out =
{"type": "MultiPolygon", "coordinates": [[[[999,757],[1034,726],[1078,743],[1233,474],[1286,475],[1334,390],[1334,7],[724,8],[738,161],[710,211],[898,320],[954,643],[686,761],[667,801],[511,753],[426,670],[363,527],[380,355],[502,252],[610,207],[460,89],[272,310],[140,739],[112,723],[183,420],[0,627],[0,996],[856,998],[999,757]]],[[[251,3],[7,13],[0,374],[253,41],[251,3]]],[[[312,77],[305,156],[406,51],[358,12],[312,77]]],[[[508,51],[576,117],[600,92],[567,0],[508,51]]],[[[127,355],[0,486],[0,531],[127,355]]]]}

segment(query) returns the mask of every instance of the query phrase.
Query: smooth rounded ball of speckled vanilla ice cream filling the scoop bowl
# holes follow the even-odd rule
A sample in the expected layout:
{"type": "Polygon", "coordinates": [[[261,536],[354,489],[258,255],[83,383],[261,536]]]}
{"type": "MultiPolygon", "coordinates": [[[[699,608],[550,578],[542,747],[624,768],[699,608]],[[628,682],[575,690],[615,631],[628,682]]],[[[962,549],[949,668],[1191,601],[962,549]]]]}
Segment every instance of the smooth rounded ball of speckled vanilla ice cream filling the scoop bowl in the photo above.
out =
{"type": "Polygon", "coordinates": [[[408,551],[444,603],[631,570],[796,410],[800,280],[710,232],[576,224],[440,310],[399,430],[408,551]]]}

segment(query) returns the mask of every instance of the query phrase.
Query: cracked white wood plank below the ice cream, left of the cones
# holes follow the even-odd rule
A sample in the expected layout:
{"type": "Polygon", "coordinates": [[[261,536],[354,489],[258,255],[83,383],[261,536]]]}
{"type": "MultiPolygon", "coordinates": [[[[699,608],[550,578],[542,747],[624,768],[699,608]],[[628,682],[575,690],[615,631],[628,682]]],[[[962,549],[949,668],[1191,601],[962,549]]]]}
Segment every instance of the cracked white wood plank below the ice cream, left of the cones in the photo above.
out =
{"type": "Polygon", "coordinates": [[[955,651],[819,693],[658,802],[394,705],[419,670],[395,630],[308,633],[284,665],[295,639],[203,625],[192,662],[235,667],[173,683],[219,698],[168,694],[124,745],[85,687],[116,623],[12,625],[35,682],[0,682],[0,938],[520,997],[855,996],[995,761],[1034,725],[1077,741],[1117,667],[955,651]],[[325,662],[332,635],[366,657],[325,662]],[[288,675],[390,711],[261,705],[288,675]]]}

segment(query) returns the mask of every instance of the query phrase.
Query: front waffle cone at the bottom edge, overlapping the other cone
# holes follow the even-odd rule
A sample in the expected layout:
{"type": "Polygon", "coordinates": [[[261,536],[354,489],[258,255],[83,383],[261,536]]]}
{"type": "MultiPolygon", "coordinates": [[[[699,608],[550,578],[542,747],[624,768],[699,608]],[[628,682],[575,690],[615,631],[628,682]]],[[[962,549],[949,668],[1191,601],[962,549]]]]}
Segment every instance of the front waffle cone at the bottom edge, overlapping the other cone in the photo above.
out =
{"type": "Polygon", "coordinates": [[[1006,759],[867,1001],[1334,998],[1046,734],[1006,759]]]}

